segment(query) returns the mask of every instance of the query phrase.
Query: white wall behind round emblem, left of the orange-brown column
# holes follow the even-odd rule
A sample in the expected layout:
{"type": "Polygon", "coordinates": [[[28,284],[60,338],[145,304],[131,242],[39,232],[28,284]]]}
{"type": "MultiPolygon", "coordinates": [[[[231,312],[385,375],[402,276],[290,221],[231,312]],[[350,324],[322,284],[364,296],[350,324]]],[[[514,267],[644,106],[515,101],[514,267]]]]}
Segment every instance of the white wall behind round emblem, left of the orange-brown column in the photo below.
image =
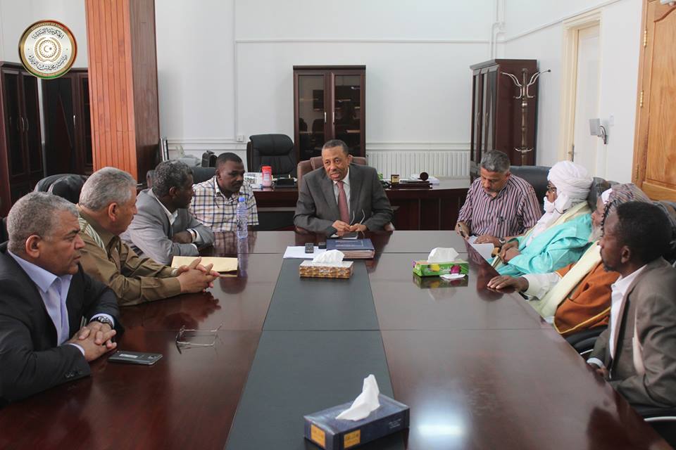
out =
{"type": "Polygon", "coordinates": [[[19,63],[21,34],[38,20],[54,19],[70,28],[77,41],[74,68],[87,67],[84,0],[0,0],[0,60],[19,63]]]}

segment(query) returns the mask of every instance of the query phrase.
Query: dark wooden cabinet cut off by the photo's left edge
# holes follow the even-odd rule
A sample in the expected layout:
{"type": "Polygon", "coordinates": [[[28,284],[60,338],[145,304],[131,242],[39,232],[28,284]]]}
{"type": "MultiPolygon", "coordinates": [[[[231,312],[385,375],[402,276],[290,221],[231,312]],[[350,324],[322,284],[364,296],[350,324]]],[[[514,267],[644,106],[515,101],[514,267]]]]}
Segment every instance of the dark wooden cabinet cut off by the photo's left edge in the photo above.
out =
{"type": "Polygon", "coordinates": [[[21,65],[0,63],[0,214],[42,179],[37,78],[21,65]]]}

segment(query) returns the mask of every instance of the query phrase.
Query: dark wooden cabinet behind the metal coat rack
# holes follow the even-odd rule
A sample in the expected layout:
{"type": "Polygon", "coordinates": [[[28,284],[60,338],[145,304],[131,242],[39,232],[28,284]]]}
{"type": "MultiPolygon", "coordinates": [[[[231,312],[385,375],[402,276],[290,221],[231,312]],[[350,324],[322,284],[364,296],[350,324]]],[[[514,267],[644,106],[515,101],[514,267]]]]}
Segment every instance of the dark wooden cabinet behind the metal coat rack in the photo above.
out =
{"type": "Polygon", "coordinates": [[[511,73],[520,81],[525,71],[526,80],[537,72],[537,60],[496,59],[470,66],[472,69],[472,135],[470,143],[470,176],[479,173],[482,154],[487,150],[507,153],[512,165],[534,165],[536,153],[537,82],[530,86],[525,117],[526,147],[520,148],[522,133],[521,100],[515,98],[519,89],[503,73],[511,73]]]}

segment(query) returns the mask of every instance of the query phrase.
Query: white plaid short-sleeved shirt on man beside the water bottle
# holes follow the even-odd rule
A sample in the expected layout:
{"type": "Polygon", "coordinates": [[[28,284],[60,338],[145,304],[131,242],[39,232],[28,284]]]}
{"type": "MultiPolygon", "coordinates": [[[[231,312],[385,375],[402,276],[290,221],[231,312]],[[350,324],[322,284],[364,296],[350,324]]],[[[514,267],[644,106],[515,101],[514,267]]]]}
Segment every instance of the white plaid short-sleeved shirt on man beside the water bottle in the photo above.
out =
{"type": "Polygon", "coordinates": [[[246,198],[246,209],[249,213],[249,225],[258,225],[256,198],[251,186],[244,182],[239,193],[226,197],[216,184],[214,176],[207,181],[192,186],[194,195],[190,203],[190,212],[201,224],[211,227],[213,231],[237,231],[237,203],[239,197],[246,198]]]}

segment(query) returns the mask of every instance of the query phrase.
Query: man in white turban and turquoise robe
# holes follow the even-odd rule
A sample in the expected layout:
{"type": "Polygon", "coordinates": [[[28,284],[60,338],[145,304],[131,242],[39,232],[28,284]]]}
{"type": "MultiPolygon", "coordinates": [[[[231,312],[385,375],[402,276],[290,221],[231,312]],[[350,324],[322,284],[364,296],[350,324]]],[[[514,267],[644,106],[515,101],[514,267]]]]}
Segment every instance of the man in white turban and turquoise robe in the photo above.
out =
{"type": "Polygon", "coordinates": [[[501,275],[555,271],[577,261],[587,248],[592,231],[592,210],[587,205],[592,177],[575,162],[561,161],[549,169],[547,179],[545,213],[524,236],[503,245],[494,261],[501,275]]]}

